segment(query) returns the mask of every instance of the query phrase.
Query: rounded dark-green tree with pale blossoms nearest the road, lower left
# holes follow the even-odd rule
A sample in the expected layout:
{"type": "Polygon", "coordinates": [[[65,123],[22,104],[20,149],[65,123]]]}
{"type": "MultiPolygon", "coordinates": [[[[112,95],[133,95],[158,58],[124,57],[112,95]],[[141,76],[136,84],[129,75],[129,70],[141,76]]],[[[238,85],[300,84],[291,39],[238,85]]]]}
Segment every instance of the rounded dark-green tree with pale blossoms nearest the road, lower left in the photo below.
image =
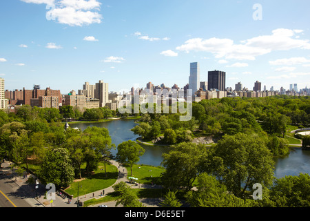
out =
{"type": "Polygon", "coordinates": [[[45,184],[67,187],[74,179],[74,169],[65,148],[49,148],[39,171],[40,180],[45,184]]]}

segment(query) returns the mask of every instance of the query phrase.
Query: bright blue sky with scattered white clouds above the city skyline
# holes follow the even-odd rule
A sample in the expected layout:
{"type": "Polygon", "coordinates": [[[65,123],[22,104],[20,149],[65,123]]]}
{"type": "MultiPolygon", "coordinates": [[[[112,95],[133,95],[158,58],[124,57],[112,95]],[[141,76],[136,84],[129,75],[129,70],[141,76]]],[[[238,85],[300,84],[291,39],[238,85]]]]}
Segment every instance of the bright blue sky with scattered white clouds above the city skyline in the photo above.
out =
{"type": "Polygon", "coordinates": [[[8,90],[39,84],[69,93],[101,79],[110,91],[148,81],[183,88],[189,64],[199,62],[200,81],[222,70],[227,87],[241,81],[252,89],[258,80],[267,89],[309,88],[309,6],[308,0],[1,0],[0,77],[8,90]]]}

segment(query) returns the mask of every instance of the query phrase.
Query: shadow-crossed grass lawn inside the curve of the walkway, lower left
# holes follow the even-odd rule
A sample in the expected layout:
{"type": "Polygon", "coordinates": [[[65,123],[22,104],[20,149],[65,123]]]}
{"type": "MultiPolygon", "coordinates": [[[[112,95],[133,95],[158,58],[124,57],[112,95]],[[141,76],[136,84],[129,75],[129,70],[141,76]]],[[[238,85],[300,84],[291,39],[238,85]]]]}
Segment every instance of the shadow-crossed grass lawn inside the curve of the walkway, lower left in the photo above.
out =
{"type": "MultiPolygon", "coordinates": [[[[99,169],[94,171],[93,175],[85,177],[84,180],[79,181],[79,195],[85,195],[94,191],[99,191],[112,186],[118,177],[118,169],[113,165],[106,165],[107,177],[105,177],[104,164],[99,163],[99,169]],[[82,186],[82,187],[81,187],[82,186]]],[[[77,197],[78,182],[73,182],[65,192],[77,197]]]]}

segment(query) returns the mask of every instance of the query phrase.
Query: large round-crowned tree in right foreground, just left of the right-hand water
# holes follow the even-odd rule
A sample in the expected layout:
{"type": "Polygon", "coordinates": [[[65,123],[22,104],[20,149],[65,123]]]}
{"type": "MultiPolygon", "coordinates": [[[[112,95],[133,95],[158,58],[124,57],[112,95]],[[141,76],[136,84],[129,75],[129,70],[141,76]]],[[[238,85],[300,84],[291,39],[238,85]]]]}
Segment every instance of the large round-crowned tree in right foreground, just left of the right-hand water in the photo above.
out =
{"type": "Polygon", "coordinates": [[[209,157],[206,171],[216,175],[238,197],[255,183],[272,184],[272,154],[258,135],[225,135],[211,148],[209,157]]]}

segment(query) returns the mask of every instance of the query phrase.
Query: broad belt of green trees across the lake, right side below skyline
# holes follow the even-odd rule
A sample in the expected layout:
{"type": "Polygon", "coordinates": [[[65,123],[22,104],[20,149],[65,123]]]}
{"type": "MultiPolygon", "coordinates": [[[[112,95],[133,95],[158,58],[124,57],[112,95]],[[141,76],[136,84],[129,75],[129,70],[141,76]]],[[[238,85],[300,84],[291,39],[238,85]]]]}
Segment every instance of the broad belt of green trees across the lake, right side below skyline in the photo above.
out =
{"type": "Polygon", "coordinates": [[[288,153],[285,139],[287,126],[310,125],[309,97],[236,97],[194,102],[192,119],[180,122],[180,114],[145,113],[132,128],[143,140],[159,140],[158,144],[179,144],[194,137],[236,135],[237,133],[265,136],[273,155],[288,153]],[[160,139],[158,139],[158,137],[160,139]]]}

